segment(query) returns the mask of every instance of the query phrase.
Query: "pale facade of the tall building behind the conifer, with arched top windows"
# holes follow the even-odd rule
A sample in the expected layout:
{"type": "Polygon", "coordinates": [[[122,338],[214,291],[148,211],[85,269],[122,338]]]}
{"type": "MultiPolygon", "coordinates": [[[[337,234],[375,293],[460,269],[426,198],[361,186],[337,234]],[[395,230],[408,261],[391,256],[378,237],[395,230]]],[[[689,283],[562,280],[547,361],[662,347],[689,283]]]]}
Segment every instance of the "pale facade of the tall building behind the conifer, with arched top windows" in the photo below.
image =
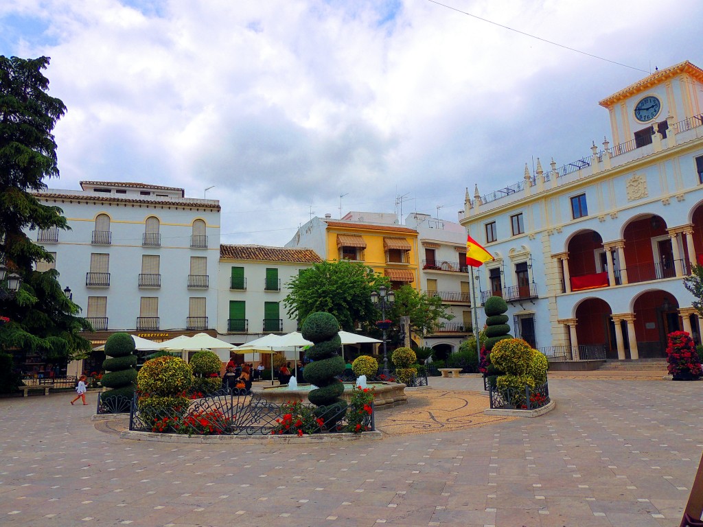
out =
{"type": "Polygon", "coordinates": [[[214,327],[219,202],[143,183],[81,185],[35,194],[63,210],[70,230],[29,234],[55,253],[61,285],[96,331],[214,327]]]}

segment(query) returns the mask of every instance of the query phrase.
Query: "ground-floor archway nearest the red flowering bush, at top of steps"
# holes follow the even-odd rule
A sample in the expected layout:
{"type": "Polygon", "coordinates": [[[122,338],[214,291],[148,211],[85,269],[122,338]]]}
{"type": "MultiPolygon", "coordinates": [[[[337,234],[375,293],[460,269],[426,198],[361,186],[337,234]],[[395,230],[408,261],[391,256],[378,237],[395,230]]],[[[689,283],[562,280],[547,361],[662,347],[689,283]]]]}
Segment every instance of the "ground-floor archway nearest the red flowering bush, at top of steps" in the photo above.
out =
{"type": "Polygon", "coordinates": [[[666,357],[666,335],[683,330],[678,301],[661,289],[646,291],[633,304],[640,358],[666,357]]]}

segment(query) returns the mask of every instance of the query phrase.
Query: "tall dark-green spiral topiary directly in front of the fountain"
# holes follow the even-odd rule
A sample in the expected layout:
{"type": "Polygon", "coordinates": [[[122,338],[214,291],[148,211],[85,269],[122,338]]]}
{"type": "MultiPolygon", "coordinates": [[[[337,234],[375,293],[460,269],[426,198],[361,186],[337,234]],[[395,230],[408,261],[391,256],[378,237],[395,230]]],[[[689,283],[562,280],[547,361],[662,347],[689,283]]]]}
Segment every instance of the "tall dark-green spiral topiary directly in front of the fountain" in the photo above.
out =
{"type": "Polygon", "coordinates": [[[312,362],[304,368],[303,377],[318,388],[310,391],[308,399],[318,407],[315,415],[328,428],[334,427],[347,412],[347,403],[341,398],[344,384],[336,379],[344,373],[344,359],[337,354],[342,346],[339,330],[337,318],[321,312],[308,315],[300,329],[303,338],[314,344],[306,352],[312,362]]]}

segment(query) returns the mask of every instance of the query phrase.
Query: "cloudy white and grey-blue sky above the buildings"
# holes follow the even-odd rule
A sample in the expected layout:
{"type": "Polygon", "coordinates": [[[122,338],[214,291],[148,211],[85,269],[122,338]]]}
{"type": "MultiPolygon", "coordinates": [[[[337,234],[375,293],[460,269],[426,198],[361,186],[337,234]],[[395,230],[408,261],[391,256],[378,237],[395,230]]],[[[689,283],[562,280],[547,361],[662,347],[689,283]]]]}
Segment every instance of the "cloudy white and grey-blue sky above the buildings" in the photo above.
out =
{"type": "Polygon", "coordinates": [[[338,217],[340,195],[342,214],[404,196],[404,215],[456,221],[466,187],[610,139],[601,98],[654,67],[703,67],[699,0],[441,4],[4,0],[0,54],[51,57],[68,108],[51,188],[214,186],[222,242],[263,245],[338,217]]]}

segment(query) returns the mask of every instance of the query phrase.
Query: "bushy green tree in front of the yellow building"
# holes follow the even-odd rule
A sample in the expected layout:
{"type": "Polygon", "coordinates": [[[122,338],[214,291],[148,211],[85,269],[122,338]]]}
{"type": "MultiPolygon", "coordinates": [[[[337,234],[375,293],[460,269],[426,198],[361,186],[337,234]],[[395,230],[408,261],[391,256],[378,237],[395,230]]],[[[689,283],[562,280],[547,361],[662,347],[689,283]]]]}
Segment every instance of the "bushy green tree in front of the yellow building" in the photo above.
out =
{"type": "Polygon", "coordinates": [[[342,329],[353,331],[354,323],[373,325],[378,320],[371,292],[381,285],[388,287],[388,279],[363,263],[323,261],[288,282],[290,293],[283,304],[301,323],[311,313],[323,311],[334,315],[342,329]]]}

